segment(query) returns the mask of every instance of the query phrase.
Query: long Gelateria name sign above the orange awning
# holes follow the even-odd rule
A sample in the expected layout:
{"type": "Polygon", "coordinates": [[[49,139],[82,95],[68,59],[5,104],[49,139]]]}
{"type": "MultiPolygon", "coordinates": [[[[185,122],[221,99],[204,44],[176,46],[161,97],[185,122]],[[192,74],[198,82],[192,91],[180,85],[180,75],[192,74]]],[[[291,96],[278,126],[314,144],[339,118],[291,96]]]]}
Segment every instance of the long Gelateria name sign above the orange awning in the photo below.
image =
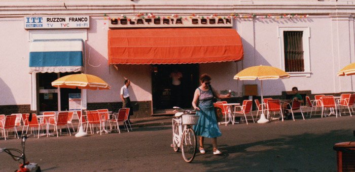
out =
{"type": "Polygon", "coordinates": [[[232,27],[229,17],[190,18],[188,16],[174,18],[137,18],[136,16],[112,17],[110,28],[127,27],[232,27]]]}

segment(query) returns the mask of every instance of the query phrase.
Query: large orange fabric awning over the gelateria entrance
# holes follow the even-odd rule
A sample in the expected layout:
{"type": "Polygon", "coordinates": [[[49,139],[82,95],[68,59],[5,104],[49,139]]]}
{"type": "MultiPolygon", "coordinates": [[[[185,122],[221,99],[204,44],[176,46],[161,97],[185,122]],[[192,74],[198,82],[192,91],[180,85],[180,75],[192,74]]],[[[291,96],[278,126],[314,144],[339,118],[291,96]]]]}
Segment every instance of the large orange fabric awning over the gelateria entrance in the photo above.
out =
{"type": "Polygon", "coordinates": [[[229,28],[109,30],[109,64],[185,64],[243,59],[239,34],[229,28]]]}

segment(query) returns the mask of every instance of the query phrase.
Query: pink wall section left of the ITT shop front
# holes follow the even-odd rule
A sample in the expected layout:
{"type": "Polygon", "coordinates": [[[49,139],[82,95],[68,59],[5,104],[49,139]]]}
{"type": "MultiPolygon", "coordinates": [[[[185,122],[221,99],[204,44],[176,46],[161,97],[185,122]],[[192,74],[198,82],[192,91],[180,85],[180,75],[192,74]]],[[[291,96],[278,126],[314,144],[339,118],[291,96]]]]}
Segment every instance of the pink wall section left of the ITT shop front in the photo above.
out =
{"type": "Polygon", "coordinates": [[[28,32],[23,18],[0,18],[0,105],[30,104],[28,32]]]}

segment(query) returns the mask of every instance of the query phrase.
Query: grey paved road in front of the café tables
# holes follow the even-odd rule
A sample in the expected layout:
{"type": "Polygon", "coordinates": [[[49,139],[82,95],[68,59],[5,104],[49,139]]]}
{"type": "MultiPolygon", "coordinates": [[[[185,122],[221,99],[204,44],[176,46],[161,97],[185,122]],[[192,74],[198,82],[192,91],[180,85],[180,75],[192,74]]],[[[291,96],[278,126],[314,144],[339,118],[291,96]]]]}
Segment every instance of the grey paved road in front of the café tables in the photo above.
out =
{"type": "MultiPolygon", "coordinates": [[[[29,138],[26,152],[44,171],[336,171],[333,145],[355,139],[354,122],[354,116],[332,116],[220,125],[223,155],[212,155],[206,139],[206,154],[198,153],[192,163],[173,152],[169,125],[85,138],[29,138]]],[[[0,140],[0,147],[20,148],[20,140],[0,140]]],[[[17,166],[0,154],[0,171],[17,166]]]]}

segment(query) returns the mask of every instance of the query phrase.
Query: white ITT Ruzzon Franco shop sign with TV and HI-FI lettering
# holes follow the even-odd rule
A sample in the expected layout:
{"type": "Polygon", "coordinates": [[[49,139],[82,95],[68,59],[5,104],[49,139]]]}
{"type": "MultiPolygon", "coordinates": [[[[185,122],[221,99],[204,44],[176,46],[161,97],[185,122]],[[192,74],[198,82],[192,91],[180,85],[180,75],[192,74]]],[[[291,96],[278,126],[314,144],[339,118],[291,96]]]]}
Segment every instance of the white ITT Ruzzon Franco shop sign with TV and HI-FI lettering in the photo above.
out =
{"type": "Polygon", "coordinates": [[[31,16],[24,17],[25,29],[89,28],[89,16],[31,16]]]}

